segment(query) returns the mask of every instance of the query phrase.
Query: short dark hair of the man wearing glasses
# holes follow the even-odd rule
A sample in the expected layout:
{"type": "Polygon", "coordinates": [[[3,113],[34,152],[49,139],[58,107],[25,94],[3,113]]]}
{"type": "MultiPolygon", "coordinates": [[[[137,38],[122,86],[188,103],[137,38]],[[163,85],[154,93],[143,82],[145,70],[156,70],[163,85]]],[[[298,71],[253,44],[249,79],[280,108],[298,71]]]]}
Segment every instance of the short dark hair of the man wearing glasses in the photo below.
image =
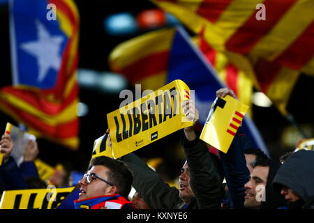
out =
{"type": "Polygon", "coordinates": [[[117,192],[128,198],[133,183],[133,174],[124,162],[114,160],[107,156],[98,156],[91,160],[89,169],[94,166],[104,166],[110,169],[108,181],[117,187],[117,192]]]}

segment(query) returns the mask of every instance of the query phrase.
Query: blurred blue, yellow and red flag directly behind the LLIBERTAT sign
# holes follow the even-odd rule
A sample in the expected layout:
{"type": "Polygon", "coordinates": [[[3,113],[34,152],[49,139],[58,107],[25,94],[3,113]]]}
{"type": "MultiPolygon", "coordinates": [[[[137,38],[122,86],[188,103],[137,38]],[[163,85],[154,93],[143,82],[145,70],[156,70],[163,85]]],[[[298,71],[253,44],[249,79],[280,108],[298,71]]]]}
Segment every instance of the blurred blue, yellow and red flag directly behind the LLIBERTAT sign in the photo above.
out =
{"type": "MultiPolygon", "coordinates": [[[[109,60],[114,72],[125,75],[133,84],[144,83],[142,90],[155,86],[156,79],[160,81],[158,84],[166,84],[174,79],[184,81],[190,90],[195,91],[190,98],[195,99],[201,125],[206,123],[211,104],[216,99],[216,91],[224,86],[214,68],[181,27],[153,31],[121,43],[113,49],[109,60]],[[160,54],[163,60],[156,59],[160,54]]],[[[254,123],[247,119],[244,118],[244,127],[253,146],[268,153],[254,123]]]]}

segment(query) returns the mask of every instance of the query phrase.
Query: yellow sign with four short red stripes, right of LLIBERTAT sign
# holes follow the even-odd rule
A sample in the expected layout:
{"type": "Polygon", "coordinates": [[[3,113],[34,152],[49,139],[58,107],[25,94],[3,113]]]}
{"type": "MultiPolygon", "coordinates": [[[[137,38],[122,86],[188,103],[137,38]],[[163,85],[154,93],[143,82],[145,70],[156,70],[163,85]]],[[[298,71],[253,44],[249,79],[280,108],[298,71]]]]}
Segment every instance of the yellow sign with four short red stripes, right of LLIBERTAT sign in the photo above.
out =
{"type": "Polygon", "coordinates": [[[230,95],[225,98],[216,98],[209,111],[200,139],[223,153],[227,153],[247,111],[247,105],[230,95]]]}

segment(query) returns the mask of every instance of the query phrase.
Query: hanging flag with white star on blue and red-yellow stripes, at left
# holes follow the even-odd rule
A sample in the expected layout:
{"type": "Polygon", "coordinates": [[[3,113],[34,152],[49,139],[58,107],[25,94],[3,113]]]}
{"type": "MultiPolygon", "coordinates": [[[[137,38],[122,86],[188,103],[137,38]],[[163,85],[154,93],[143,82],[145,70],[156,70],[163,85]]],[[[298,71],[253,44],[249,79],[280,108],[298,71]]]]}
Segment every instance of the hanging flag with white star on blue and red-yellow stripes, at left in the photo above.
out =
{"type": "Polygon", "coordinates": [[[0,107],[29,132],[73,149],[79,144],[78,34],[71,0],[10,1],[13,86],[0,90],[0,107]]]}

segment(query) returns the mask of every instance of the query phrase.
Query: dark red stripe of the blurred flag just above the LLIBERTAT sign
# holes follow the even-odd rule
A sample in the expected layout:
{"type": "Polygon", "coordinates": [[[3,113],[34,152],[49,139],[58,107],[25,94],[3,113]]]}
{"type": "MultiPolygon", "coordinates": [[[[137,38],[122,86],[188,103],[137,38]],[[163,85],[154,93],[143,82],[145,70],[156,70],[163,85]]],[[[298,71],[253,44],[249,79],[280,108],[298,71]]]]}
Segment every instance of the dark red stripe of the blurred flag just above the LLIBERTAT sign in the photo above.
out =
{"type": "Polygon", "coordinates": [[[125,75],[130,82],[136,82],[144,77],[150,77],[167,69],[169,51],[158,52],[135,61],[122,69],[113,70],[125,75]]]}

